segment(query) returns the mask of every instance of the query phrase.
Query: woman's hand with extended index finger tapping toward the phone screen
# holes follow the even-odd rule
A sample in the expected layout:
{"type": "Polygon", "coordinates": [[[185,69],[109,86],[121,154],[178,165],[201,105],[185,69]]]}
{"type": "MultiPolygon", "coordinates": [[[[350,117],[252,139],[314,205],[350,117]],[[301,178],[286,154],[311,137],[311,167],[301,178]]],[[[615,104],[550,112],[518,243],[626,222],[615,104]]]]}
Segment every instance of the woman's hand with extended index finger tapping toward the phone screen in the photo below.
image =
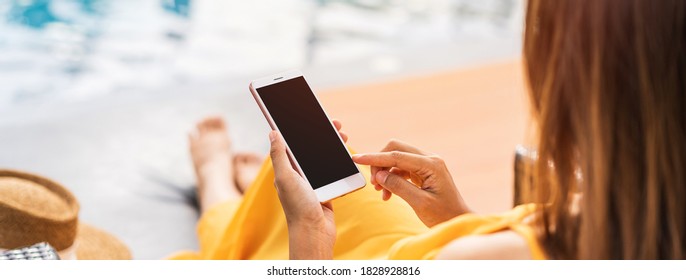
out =
{"type": "Polygon", "coordinates": [[[353,161],[371,166],[371,182],[383,199],[396,194],[428,227],[470,212],[443,159],[392,140],[379,153],[353,155],[353,161]]]}

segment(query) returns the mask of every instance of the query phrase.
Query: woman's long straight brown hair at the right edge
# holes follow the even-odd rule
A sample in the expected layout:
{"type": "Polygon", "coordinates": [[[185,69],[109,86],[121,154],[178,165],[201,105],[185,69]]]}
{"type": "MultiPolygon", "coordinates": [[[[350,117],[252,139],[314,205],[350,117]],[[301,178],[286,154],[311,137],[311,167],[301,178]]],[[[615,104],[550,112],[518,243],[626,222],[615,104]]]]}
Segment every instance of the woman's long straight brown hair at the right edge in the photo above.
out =
{"type": "Polygon", "coordinates": [[[529,0],[524,58],[549,257],[685,258],[686,1],[529,0]]]}

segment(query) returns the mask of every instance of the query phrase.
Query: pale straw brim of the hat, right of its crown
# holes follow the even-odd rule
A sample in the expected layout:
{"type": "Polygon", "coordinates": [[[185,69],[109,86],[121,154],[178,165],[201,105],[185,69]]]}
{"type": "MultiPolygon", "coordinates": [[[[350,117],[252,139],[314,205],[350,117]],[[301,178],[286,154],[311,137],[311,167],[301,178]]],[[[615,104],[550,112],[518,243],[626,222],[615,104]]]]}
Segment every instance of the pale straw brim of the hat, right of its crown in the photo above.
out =
{"type": "Polygon", "coordinates": [[[79,260],[130,260],[131,252],[116,237],[88,224],[79,223],[74,241],[79,260]]]}

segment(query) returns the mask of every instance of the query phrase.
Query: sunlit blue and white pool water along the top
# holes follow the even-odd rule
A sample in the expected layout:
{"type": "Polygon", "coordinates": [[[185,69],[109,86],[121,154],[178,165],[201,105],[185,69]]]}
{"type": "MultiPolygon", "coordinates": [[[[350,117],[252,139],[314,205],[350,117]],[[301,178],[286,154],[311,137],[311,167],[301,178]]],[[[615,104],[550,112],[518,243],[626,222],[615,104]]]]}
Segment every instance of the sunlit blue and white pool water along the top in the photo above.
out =
{"type": "Polygon", "coordinates": [[[0,108],[521,32],[523,0],[0,0],[0,108]]]}

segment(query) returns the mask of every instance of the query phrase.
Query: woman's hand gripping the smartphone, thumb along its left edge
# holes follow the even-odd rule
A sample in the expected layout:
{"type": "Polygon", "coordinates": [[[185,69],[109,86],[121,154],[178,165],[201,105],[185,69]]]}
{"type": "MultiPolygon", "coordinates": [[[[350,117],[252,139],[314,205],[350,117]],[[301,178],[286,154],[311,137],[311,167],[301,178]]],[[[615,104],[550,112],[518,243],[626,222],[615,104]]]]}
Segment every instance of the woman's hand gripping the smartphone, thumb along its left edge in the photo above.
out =
{"type": "MultiPolygon", "coordinates": [[[[348,136],[333,121],[344,142],[348,136]]],[[[332,259],[336,224],[331,202],[320,203],[310,184],[293,169],[286,142],[277,132],[269,134],[274,185],[288,224],[290,259],[332,259]]]]}

